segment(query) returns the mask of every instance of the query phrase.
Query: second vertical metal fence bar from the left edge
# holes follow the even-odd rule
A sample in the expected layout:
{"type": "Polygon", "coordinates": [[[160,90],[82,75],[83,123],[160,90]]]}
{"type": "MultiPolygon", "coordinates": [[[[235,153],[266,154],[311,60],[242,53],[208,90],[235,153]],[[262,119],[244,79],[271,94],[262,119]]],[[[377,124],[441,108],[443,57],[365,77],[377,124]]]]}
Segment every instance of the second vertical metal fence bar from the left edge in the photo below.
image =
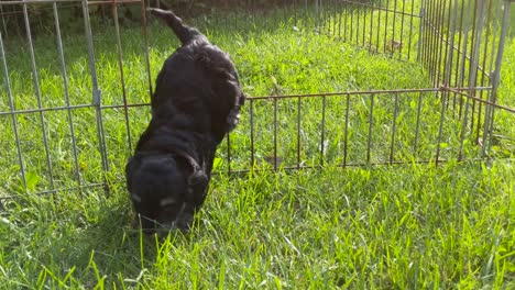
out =
{"type": "MultiPolygon", "coordinates": [[[[34,81],[34,92],[35,92],[36,98],[37,98],[37,108],[42,109],[43,103],[41,101],[40,80],[39,80],[39,76],[37,76],[37,67],[36,67],[36,64],[35,64],[34,46],[32,44],[31,26],[30,26],[30,23],[29,23],[29,12],[28,12],[28,9],[26,9],[26,3],[23,3],[23,16],[24,16],[24,20],[25,20],[26,38],[28,38],[28,42],[29,42],[29,53],[31,55],[31,67],[32,67],[32,78],[33,78],[33,81],[34,81]]],[[[55,189],[55,187],[54,187],[54,174],[53,174],[53,170],[52,170],[52,160],[51,160],[51,156],[50,156],[50,147],[48,147],[48,140],[47,140],[48,136],[47,136],[47,133],[46,133],[46,125],[45,125],[46,122],[45,122],[45,116],[44,116],[42,111],[40,111],[40,122],[41,122],[41,131],[42,131],[42,135],[43,135],[43,144],[45,146],[46,166],[48,168],[50,182],[51,182],[52,189],[55,189]]]]}

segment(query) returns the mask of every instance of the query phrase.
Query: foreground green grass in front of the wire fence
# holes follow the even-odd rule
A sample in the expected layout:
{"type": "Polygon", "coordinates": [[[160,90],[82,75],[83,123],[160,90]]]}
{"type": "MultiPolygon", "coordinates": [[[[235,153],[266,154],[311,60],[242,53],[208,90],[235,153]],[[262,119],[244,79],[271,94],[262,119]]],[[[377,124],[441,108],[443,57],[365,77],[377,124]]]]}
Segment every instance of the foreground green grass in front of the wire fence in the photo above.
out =
{"type": "Polygon", "coordinates": [[[123,187],[11,201],[6,289],[509,288],[513,166],[449,164],[216,178],[200,222],[129,227],[123,187]]]}

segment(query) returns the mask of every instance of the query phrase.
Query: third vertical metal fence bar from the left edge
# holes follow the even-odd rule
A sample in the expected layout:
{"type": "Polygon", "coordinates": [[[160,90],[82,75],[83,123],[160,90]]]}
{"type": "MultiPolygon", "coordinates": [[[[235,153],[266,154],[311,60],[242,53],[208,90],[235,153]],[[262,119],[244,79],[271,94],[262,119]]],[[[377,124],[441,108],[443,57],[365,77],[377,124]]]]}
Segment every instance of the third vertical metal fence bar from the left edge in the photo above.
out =
{"type": "Polygon", "coordinates": [[[59,62],[61,62],[61,74],[63,76],[63,83],[64,83],[64,93],[66,100],[66,107],[68,107],[68,123],[69,123],[69,132],[72,134],[72,152],[74,154],[74,165],[75,165],[75,175],[77,178],[77,183],[80,186],[80,167],[78,164],[78,156],[77,156],[77,142],[75,140],[75,126],[74,126],[74,119],[72,115],[72,110],[69,109],[69,83],[68,83],[68,76],[66,75],[66,64],[64,59],[64,51],[63,51],[63,41],[61,36],[61,25],[59,25],[59,15],[57,12],[57,3],[53,3],[54,8],[54,20],[55,20],[55,35],[57,40],[57,49],[59,53],[59,62]]]}

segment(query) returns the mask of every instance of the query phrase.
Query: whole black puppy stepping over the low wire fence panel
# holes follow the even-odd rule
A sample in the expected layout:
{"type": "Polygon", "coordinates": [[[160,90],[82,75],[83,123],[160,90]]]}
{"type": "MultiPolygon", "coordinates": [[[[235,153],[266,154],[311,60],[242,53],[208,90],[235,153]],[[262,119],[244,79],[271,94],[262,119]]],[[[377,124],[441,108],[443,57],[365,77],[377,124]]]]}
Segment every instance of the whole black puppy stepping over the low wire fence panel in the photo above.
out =
{"type": "Polygon", "coordinates": [[[172,11],[150,9],[182,42],[164,63],[151,98],[152,120],[125,166],[142,228],[188,230],[206,199],[218,144],[244,102],[229,55],[172,11]]]}

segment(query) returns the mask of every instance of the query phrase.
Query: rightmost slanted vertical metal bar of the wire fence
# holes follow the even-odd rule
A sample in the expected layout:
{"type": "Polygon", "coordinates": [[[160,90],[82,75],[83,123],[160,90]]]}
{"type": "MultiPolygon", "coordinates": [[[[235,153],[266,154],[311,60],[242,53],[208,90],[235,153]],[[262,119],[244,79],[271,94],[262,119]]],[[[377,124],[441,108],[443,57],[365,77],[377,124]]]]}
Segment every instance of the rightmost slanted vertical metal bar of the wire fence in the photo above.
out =
{"type": "MultiPolygon", "coordinates": [[[[502,26],[501,26],[501,36],[498,40],[498,49],[497,49],[497,55],[495,59],[495,69],[492,72],[492,94],[491,94],[491,102],[496,103],[497,102],[497,89],[498,85],[501,82],[501,65],[503,63],[503,53],[504,53],[504,45],[506,42],[506,34],[508,31],[509,26],[509,0],[504,0],[504,13],[503,13],[503,20],[502,20],[502,26]]],[[[485,130],[487,132],[487,145],[486,149],[490,150],[492,146],[492,132],[493,132],[493,125],[494,125],[494,116],[495,116],[495,108],[492,107],[492,110],[490,112],[490,124],[489,129],[485,130]]],[[[485,122],[486,123],[486,122],[485,122]]],[[[486,140],[486,138],[484,138],[486,140]]]]}

